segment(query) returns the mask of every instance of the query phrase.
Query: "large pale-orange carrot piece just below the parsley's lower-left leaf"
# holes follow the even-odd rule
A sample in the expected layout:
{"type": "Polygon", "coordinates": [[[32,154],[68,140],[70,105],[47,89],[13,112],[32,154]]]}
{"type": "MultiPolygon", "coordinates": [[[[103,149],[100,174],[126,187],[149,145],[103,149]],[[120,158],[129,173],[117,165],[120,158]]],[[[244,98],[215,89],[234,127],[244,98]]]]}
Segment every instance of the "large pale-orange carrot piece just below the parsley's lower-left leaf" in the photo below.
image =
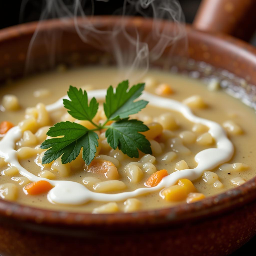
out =
{"type": "Polygon", "coordinates": [[[119,177],[115,165],[104,159],[94,159],[89,165],[85,166],[85,170],[92,173],[102,173],[109,179],[117,179],[119,177]]]}

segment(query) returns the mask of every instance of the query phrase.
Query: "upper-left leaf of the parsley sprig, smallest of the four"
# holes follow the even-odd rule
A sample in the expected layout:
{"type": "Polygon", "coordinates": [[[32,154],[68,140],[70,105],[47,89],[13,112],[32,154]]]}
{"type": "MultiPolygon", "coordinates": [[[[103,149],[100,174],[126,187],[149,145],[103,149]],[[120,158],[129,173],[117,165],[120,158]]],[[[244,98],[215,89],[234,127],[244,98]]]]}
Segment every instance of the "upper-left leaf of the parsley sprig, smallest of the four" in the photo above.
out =
{"type": "Polygon", "coordinates": [[[79,90],[76,87],[70,86],[68,90],[68,97],[70,100],[63,99],[63,104],[66,109],[69,109],[68,113],[78,120],[92,121],[96,115],[99,107],[99,103],[93,97],[88,106],[87,92],[79,90]]]}

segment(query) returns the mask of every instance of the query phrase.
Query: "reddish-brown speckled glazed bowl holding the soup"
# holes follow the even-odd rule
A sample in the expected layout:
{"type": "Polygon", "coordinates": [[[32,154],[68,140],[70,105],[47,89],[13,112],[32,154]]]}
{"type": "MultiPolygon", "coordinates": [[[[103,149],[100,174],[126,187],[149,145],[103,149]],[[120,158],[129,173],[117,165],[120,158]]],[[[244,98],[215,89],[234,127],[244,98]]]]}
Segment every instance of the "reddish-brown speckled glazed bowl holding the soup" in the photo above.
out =
{"type": "MultiPolygon", "coordinates": [[[[119,17],[95,17],[92,20],[96,26],[103,24],[108,27],[118,21],[119,17]]],[[[129,26],[135,26],[147,34],[151,23],[150,19],[130,18],[127,30],[129,26]]],[[[2,82],[24,73],[25,56],[36,26],[37,23],[28,23],[0,31],[2,82]]],[[[65,26],[72,27],[73,22],[66,22],[65,26]]],[[[84,44],[76,33],[63,30],[63,23],[59,20],[47,21],[40,29],[63,31],[65,40],[59,48],[56,64],[70,65],[74,53],[78,56],[76,65],[84,62],[97,64],[98,57],[103,54],[84,44]]],[[[186,29],[189,56],[188,60],[173,58],[177,60],[176,70],[194,74],[202,66],[210,67],[211,74],[215,73],[222,79],[226,76],[228,82],[223,83],[223,87],[240,91],[253,103],[256,90],[251,84],[256,84],[256,50],[226,35],[204,33],[189,26],[186,29]],[[199,65],[188,67],[184,63],[199,65]]],[[[45,49],[38,51],[35,58],[38,66],[35,64],[34,72],[49,68],[41,65],[46,59],[45,49]]],[[[160,63],[156,65],[161,67],[160,63]]],[[[170,60],[170,68],[173,65],[170,60]]],[[[204,70],[209,71],[209,68],[204,70]]],[[[210,75],[205,71],[200,71],[200,74],[210,75]]],[[[233,190],[193,204],[129,214],[50,211],[0,200],[0,254],[227,255],[256,233],[255,181],[253,178],[233,190]]]]}

